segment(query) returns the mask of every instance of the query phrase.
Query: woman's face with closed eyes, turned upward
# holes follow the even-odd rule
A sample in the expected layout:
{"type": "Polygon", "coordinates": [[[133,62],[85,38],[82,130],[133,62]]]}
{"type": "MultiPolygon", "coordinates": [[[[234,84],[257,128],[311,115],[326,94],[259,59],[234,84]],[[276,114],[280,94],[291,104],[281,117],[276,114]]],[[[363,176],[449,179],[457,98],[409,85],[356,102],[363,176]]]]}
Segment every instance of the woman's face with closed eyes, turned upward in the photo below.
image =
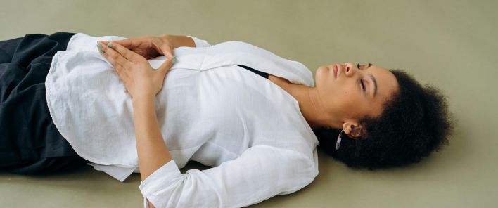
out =
{"type": "MultiPolygon", "coordinates": [[[[390,71],[371,64],[333,64],[315,74],[315,87],[325,112],[341,122],[359,122],[365,116],[378,117],[383,104],[398,89],[390,71]]],[[[342,129],[339,124],[328,127],[342,129]]],[[[340,124],[342,125],[342,124],[340,124]]]]}

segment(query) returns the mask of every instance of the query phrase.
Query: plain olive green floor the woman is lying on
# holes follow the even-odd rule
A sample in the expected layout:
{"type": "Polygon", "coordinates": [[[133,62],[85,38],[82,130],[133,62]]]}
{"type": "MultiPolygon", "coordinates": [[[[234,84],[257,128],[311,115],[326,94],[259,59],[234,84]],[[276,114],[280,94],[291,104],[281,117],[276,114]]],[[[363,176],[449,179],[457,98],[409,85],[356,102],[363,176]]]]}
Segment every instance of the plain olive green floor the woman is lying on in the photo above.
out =
{"type": "MultiPolygon", "coordinates": [[[[406,69],[447,95],[457,119],[447,148],[375,172],[319,155],[312,184],[254,207],[498,207],[497,2],[1,0],[0,39],[190,34],[246,41],[312,71],[349,61],[406,69]]],[[[120,183],[91,167],[0,173],[0,207],[141,207],[139,183],[139,175],[120,183]]]]}

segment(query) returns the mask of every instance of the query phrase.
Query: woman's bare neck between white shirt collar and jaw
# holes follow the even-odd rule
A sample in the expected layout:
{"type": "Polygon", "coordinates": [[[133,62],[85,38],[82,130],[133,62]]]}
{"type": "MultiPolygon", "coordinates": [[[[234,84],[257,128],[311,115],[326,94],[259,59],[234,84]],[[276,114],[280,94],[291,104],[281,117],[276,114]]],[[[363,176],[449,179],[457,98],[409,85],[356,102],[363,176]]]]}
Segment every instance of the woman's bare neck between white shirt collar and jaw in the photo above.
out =
{"type": "Polygon", "coordinates": [[[312,129],[341,125],[340,121],[325,111],[317,88],[299,84],[288,84],[286,88],[287,92],[298,100],[299,109],[312,129]]]}

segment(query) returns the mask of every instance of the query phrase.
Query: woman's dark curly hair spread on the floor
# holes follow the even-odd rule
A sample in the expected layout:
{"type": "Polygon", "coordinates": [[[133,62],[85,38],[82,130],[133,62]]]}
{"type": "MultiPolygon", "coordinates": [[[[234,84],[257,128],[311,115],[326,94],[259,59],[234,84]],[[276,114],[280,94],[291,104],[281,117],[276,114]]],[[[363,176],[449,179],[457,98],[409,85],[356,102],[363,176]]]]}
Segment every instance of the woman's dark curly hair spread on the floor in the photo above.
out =
{"type": "Polygon", "coordinates": [[[360,120],[367,137],[352,139],[343,134],[336,150],[340,130],[316,128],[319,149],[348,167],[373,170],[419,162],[448,144],[454,122],[445,96],[433,86],[421,86],[407,72],[390,72],[400,88],[384,104],[380,117],[360,120]]]}

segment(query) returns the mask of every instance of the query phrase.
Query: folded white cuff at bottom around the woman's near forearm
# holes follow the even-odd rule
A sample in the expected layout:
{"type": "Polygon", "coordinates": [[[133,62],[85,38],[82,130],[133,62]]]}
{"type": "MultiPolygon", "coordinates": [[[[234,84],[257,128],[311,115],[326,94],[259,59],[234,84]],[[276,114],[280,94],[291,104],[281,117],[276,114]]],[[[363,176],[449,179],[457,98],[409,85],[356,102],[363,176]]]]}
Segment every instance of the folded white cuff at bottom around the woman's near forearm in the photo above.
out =
{"type": "Polygon", "coordinates": [[[155,170],[150,176],[143,180],[139,186],[144,198],[144,205],[146,205],[146,199],[152,203],[154,201],[153,197],[155,196],[155,192],[160,190],[160,188],[164,188],[165,184],[180,175],[180,170],[174,160],[170,160],[170,162],[167,162],[162,167],[155,170]]]}

